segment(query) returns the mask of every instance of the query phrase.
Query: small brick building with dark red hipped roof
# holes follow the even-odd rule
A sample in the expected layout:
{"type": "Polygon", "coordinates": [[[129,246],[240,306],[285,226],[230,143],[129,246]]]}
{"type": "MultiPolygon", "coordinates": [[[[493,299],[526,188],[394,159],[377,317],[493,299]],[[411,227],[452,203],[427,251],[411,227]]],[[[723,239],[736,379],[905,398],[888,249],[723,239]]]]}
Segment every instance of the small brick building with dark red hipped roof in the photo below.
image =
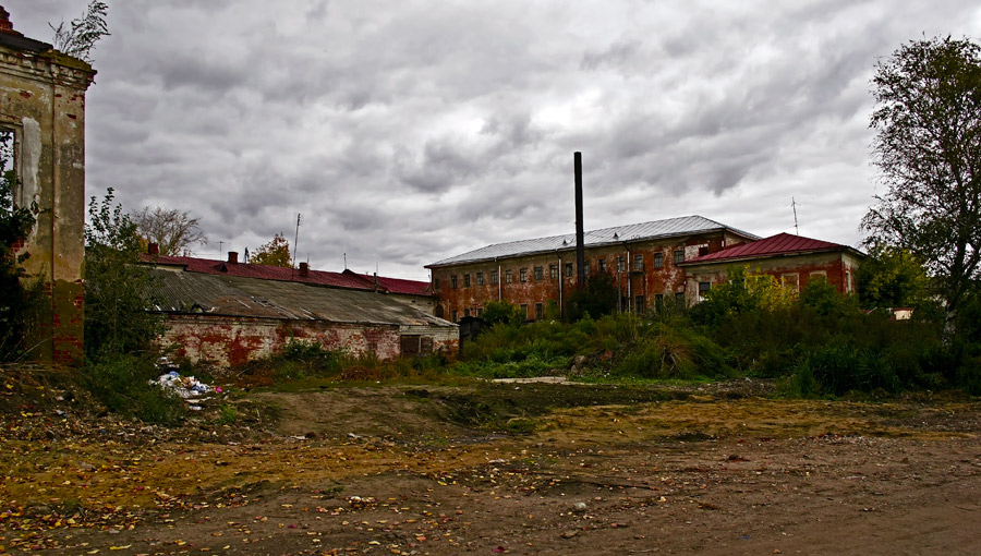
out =
{"type": "Polygon", "coordinates": [[[857,271],[865,255],[847,245],[828,241],[778,233],[759,241],[726,247],[681,263],[687,278],[686,290],[699,298],[708,289],[726,281],[732,267],[746,267],[752,274],[776,278],[795,292],[820,278],[839,293],[858,289],[857,271]]]}

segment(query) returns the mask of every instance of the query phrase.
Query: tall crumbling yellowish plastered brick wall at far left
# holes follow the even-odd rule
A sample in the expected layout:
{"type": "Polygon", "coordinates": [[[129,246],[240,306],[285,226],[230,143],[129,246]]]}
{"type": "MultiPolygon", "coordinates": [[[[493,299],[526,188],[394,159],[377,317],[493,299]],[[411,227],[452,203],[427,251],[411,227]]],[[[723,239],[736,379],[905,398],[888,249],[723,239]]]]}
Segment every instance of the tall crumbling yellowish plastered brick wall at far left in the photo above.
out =
{"type": "Polygon", "coordinates": [[[85,90],[95,71],[48,50],[0,45],[0,130],[14,137],[19,206],[37,202],[43,213],[19,255],[28,279],[50,295],[31,355],[41,361],[82,360],[83,227],[85,221],[85,90]]]}

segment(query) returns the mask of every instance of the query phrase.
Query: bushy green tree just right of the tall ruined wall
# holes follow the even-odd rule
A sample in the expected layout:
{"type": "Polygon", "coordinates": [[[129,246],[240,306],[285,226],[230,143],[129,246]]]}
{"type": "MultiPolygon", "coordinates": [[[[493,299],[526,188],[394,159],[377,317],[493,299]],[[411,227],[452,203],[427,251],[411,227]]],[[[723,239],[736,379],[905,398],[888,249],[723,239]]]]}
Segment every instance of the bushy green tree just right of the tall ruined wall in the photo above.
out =
{"type": "Polygon", "coordinates": [[[152,313],[154,280],[140,265],[140,234],[110,188],[92,197],[85,225],[85,355],[93,361],[147,350],[164,331],[152,313]]]}

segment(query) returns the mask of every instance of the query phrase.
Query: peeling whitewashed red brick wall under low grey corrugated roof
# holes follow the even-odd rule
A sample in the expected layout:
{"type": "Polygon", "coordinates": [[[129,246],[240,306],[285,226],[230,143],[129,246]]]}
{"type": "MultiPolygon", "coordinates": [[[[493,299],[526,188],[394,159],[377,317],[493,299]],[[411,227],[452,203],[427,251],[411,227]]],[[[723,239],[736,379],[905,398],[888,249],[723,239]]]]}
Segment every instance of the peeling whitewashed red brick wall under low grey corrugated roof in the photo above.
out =
{"type": "Polygon", "coordinates": [[[319,343],[326,350],[399,355],[397,325],[337,324],[322,321],[275,321],[216,315],[169,315],[160,345],[175,355],[210,361],[218,366],[241,365],[271,355],[292,338],[319,343]]]}

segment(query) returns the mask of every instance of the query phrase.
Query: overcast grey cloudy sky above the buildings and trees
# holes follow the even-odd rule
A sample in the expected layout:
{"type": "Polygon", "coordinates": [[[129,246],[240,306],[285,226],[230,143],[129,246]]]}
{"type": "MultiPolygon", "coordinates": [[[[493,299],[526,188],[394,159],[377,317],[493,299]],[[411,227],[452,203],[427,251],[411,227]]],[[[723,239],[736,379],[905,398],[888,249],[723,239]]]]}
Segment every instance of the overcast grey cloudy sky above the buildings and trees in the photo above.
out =
{"type": "MultiPolygon", "coordinates": [[[[86,0],[0,0],[14,28],[86,0]]],[[[981,38],[977,0],[108,0],[88,195],[190,210],[199,256],[427,279],[491,243],[701,215],[857,245],[876,60],[981,38]]]]}

